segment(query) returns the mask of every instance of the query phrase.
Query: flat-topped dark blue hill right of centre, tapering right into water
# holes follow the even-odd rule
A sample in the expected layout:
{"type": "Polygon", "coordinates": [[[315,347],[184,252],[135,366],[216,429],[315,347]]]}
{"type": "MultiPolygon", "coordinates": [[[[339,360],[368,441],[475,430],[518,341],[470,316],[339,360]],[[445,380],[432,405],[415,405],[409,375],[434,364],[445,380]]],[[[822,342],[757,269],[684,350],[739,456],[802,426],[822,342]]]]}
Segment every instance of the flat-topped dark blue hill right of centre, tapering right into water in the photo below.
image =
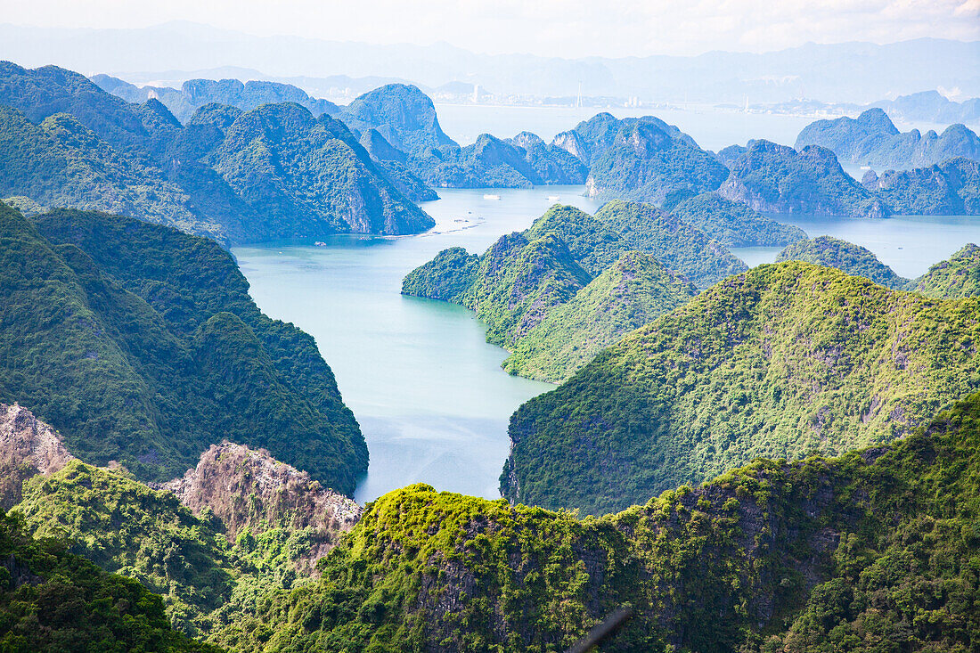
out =
{"type": "Polygon", "coordinates": [[[833,152],[816,145],[798,152],[766,140],[749,141],[718,194],[766,213],[889,215],[885,202],[845,173],[833,152]]]}

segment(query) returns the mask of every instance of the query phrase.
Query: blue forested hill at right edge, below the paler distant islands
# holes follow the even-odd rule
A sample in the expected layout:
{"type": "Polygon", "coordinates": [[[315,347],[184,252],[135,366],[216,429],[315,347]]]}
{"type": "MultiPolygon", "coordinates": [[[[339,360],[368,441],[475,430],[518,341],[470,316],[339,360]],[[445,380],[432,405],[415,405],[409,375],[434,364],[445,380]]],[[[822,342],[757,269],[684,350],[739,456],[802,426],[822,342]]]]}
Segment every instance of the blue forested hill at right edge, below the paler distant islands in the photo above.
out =
{"type": "Polygon", "coordinates": [[[861,183],[897,214],[907,216],[980,215],[980,162],[950,159],[910,171],[865,173],[861,183]]]}

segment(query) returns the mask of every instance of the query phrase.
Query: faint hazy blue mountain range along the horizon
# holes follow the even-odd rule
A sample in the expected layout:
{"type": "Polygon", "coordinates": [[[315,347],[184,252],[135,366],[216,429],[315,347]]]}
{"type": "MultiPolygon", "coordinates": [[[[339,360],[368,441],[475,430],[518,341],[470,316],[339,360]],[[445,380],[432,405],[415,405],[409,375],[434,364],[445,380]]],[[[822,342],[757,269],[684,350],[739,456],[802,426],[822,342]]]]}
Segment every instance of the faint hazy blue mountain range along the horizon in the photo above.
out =
{"type": "Polygon", "coordinates": [[[947,39],[887,45],[809,43],[763,54],[569,60],[480,55],[446,43],[375,45],[261,37],[208,25],[169,23],[133,29],[0,25],[0,44],[0,58],[26,66],[57,64],[88,74],[200,71],[233,63],[278,77],[375,75],[411,79],[429,87],[465,80],[498,93],[542,96],[575,95],[581,83],[588,95],[739,105],[747,97],[753,103],[800,97],[870,103],[938,86],[958,88],[967,97],[980,96],[980,42],[947,39]],[[120,62],[125,62],[124,67],[120,62]]]}

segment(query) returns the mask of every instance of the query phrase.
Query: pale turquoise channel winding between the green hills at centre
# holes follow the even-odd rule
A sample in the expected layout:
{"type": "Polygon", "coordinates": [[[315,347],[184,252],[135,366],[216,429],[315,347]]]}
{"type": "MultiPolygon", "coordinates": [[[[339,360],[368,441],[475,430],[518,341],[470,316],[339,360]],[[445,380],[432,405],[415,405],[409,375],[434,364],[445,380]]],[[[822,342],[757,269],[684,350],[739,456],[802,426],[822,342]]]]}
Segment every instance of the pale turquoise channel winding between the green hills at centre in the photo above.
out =
{"type": "Polygon", "coordinates": [[[317,338],[361,424],[370,464],[359,502],[419,481],[500,496],[508,420],[524,401],[554,386],[507,375],[500,369],[507,352],[486,343],[470,312],[403,297],[402,277],[446,247],[482,253],[547,211],[555,203],[549,196],[595,211],[582,191],[440,190],[442,199],[423,205],[437,221],[423,235],[234,250],[262,310],[317,338]],[[501,199],[486,200],[484,192],[501,199]]]}

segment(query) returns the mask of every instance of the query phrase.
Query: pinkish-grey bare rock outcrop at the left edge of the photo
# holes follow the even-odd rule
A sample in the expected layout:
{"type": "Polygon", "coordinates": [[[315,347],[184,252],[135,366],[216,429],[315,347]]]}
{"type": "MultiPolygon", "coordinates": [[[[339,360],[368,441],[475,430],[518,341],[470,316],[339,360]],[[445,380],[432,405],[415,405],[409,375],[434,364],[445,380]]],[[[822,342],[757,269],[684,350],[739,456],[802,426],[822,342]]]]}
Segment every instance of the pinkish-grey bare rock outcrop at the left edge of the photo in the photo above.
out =
{"type": "Polygon", "coordinates": [[[0,404],[0,508],[21,500],[27,478],[54,474],[73,458],[54,428],[17,404],[0,404]]]}

